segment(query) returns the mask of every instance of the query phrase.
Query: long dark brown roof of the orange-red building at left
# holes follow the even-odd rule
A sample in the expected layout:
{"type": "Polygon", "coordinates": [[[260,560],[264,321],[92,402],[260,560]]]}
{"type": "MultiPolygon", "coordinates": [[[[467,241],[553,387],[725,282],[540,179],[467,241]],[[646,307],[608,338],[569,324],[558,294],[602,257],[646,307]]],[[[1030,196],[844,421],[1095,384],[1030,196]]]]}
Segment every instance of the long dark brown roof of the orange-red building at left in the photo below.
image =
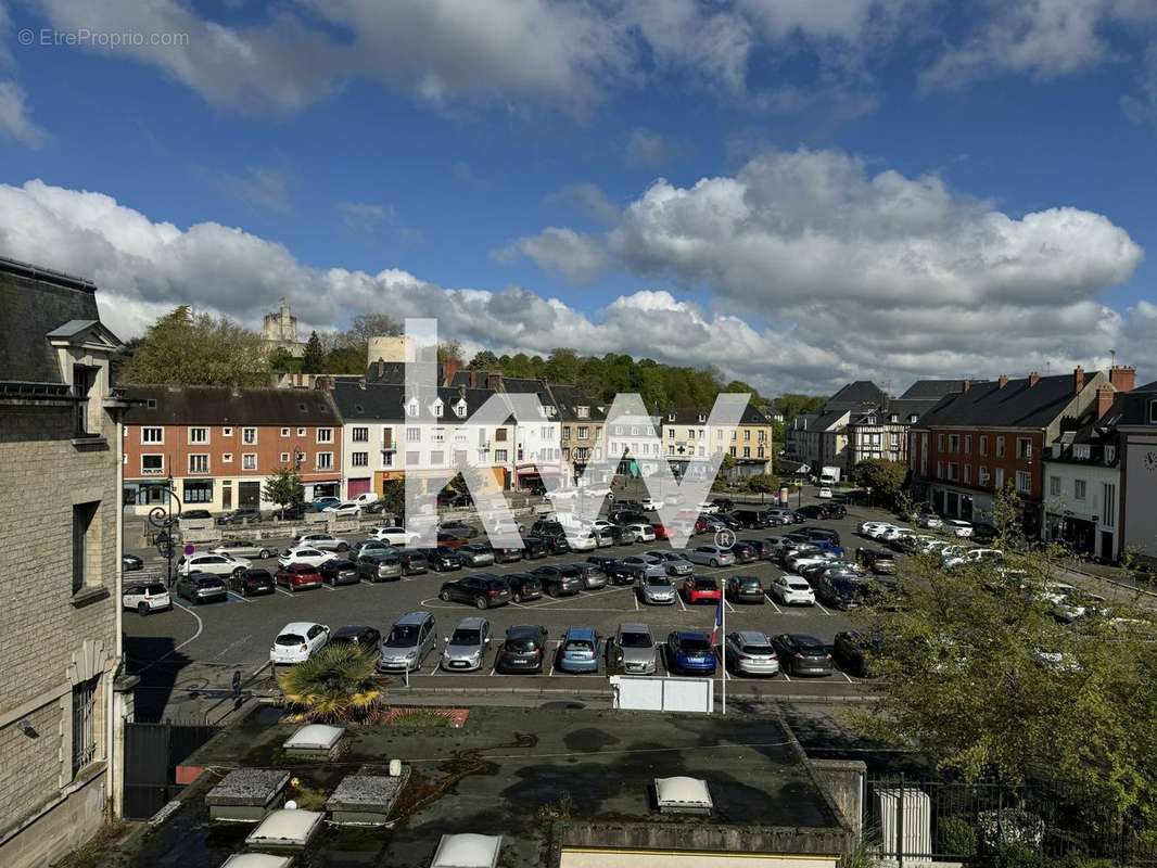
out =
{"type": "Polygon", "coordinates": [[[238,389],[221,385],[128,385],[126,425],[341,425],[320,389],[238,389]],[[154,402],[154,406],[149,406],[154,402]]]}

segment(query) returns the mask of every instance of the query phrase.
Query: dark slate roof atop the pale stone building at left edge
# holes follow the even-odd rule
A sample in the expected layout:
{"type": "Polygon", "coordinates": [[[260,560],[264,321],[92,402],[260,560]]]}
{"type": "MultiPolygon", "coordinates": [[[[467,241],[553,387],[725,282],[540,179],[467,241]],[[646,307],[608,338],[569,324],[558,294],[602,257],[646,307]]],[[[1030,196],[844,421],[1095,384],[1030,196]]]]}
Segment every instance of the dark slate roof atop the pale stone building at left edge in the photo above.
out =
{"type": "Polygon", "coordinates": [[[47,336],[97,322],[96,286],[0,258],[0,381],[62,384],[47,336]]]}

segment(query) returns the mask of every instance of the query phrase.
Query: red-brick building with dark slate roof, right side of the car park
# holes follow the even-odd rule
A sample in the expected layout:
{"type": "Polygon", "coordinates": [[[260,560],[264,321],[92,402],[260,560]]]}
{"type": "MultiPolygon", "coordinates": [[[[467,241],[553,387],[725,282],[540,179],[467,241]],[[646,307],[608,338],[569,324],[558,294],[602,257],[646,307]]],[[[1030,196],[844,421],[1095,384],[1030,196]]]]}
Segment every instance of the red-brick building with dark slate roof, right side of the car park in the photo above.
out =
{"type": "Polygon", "coordinates": [[[1135,372],[1085,373],[964,383],[909,433],[913,494],[941,515],[990,522],[996,492],[1018,495],[1025,532],[1044,523],[1047,446],[1088,424],[1101,393],[1133,388],[1135,372]]]}

